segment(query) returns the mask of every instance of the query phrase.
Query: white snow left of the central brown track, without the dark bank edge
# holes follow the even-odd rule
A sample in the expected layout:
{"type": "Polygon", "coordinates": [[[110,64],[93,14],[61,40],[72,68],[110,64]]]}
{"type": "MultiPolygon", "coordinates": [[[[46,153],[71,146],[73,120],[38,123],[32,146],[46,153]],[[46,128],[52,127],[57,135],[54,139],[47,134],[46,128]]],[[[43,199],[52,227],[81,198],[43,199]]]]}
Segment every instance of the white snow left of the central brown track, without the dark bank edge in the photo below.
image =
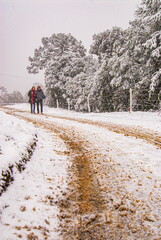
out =
{"type": "Polygon", "coordinates": [[[35,134],[38,136],[25,171],[13,173],[13,184],[1,196],[1,239],[46,239],[50,235],[50,239],[58,240],[58,210],[53,202],[66,189],[68,161],[61,154],[66,147],[56,134],[2,111],[0,116],[1,171],[26,155],[35,134]]]}

